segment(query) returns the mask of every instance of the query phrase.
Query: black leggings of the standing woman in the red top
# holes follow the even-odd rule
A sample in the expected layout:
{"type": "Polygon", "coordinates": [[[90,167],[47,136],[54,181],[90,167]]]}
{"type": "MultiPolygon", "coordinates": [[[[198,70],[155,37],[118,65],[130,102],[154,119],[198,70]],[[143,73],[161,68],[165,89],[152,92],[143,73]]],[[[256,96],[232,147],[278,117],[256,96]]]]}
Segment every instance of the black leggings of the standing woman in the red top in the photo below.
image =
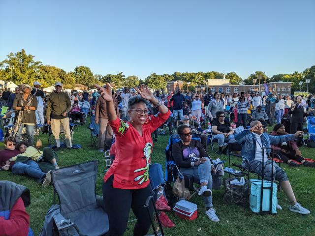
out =
{"type": "MultiPolygon", "coordinates": [[[[106,236],[124,235],[128,223],[129,211],[132,209],[137,218],[133,228],[134,236],[144,236],[148,233],[151,221],[148,210],[144,204],[149,195],[152,195],[152,188],[149,184],[141,189],[121,189],[113,187],[114,175],[103,183],[103,201],[105,211],[109,219],[109,232],[106,236]]],[[[150,213],[153,215],[154,208],[150,204],[150,213]]]]}

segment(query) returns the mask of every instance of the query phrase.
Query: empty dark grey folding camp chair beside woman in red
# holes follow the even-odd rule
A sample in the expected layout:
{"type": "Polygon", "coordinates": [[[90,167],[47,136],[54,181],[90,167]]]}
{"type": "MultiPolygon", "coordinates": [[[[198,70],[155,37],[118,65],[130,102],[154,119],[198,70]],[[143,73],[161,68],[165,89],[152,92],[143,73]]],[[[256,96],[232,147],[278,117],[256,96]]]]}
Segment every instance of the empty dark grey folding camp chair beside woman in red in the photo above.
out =
{"type": "Polygon", "coordinates": [[[78,236],[102,236],[108,232],[108,216],[96,201],[97,166],[95,160],[52,172],[54,204],[56,193],[60,204],[60,213],[54,215],[58,232],[67,227],[76,230],[78,236]]]}

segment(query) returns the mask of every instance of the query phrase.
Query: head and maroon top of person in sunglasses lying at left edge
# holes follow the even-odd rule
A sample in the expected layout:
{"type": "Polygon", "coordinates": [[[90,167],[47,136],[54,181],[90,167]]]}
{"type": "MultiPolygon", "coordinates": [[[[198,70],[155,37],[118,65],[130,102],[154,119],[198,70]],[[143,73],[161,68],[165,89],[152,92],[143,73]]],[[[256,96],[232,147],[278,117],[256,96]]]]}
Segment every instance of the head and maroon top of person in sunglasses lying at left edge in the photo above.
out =
{"type": "Polygon", "coordinates": [[[15,148],[15,138],[14,137],[6,137],[4,140],[5,149],[0,150],[0,170],[8,171],[11,169],[14,162],[10,164],[6,164],[6,162],[13,156],[20,154],[19,149],[15,148]]]}

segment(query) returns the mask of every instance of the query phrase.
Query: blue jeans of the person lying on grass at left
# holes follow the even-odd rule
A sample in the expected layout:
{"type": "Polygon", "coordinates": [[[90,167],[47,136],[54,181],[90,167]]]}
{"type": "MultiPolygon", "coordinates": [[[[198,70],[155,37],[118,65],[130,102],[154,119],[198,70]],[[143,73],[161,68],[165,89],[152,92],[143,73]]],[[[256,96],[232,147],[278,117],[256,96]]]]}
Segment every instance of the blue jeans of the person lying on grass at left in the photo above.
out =
{"type": "Polygon", "coordinates": [[[38,181],[41,181],[46,177],[46,174],[41,171],[37,162],[33,160],[14,163],[12,166],[12,174],[28,175],[30,177],[37,179],[38,181]]]}

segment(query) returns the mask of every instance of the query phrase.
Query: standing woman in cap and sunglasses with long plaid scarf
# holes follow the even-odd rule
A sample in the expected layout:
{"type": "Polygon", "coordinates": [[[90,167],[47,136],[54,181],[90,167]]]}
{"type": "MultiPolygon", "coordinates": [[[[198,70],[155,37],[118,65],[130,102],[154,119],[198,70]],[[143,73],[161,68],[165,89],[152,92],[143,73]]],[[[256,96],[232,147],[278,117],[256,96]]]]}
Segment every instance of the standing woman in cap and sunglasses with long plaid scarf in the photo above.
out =
{"type": "Polygon", "coordinates": [[[23,92],[17,94],[13,101],[13,109],[16,111],[13,134],[16,141],[21,141],[22,129],[26,125],[28,143],[33,143],[34,125],[36,124],[35,111],[37,109],[37,99],[31,94],[32,87],[24,85],[23,92]]]}

